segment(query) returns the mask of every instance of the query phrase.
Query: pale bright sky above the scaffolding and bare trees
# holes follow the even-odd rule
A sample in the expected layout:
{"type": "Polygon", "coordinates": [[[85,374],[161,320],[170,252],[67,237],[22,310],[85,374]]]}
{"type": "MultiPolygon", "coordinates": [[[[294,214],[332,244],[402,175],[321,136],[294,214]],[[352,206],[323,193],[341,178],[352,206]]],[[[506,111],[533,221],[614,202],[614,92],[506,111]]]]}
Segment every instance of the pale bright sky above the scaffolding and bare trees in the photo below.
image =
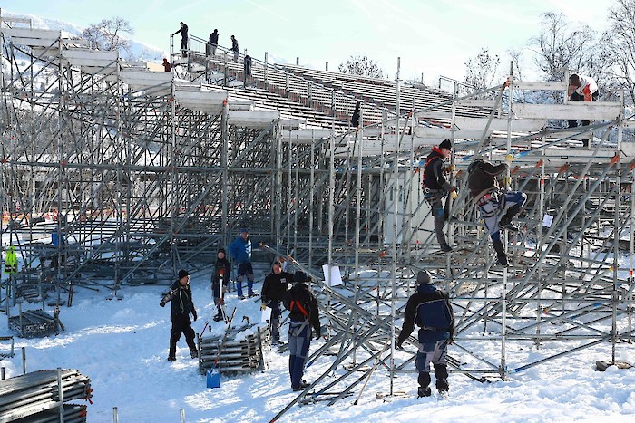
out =
{"type": "Polygon", "coordinates": [[[539,33],[541,14],[562,12],[573,23],[601,32],[611,0],[1,0],[3,10],[80,26],[121,16],[133,38],[169,50],[182,20],[190,34],[207,38],[217,28],[220,45],[230,35],[255,58],[296,62],[336,71],[351,55],[366,55],[395,78],[435,82],[464,79],[464,62],[482,48],[508,66],[509,48],[520,49],[539,33]]]}

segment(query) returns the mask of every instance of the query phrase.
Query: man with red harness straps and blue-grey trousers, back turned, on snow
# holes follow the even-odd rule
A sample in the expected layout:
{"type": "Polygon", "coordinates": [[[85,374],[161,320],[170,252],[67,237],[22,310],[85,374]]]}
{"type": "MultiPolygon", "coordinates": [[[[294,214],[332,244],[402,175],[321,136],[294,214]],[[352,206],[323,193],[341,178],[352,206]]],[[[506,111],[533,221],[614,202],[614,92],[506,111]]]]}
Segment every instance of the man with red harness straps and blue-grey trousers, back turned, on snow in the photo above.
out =
{"type": "Polygon", "coordinates": [[[308,358],[308,346],[311,343],[311,326],[316,331],[316,339],[321,335],[318,300],[308,290],[307,274],[298,271],[293,276],[294,284],[284,295],[283,303],[289,311],[288,323],[288,372],[291,377],[291,389],[301,390],[308,387],[302,380],[304,365],[308,358]]]}

